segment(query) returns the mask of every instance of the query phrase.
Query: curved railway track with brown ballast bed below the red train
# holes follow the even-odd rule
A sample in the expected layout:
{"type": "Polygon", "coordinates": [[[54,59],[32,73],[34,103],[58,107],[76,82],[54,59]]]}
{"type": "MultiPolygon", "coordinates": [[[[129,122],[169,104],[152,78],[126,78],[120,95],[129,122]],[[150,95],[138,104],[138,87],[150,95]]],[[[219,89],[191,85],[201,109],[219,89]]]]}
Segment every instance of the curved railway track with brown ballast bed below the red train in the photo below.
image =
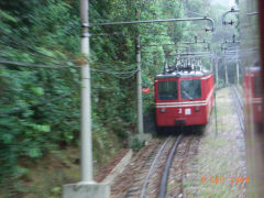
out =
{"type": "Polygon", "coordinates": [[[193,135],[179,134],[156,141],[140,158],[131,163],[127,175],[113,187],[117,190],[112,191],[111,198],[165,198],[168,195],[167,183],[172,177],[172,169],[176,166],[179,167],[176,169],[180,175],[177,194],[183,194],[185,157],[191,140],[193,135]]]}

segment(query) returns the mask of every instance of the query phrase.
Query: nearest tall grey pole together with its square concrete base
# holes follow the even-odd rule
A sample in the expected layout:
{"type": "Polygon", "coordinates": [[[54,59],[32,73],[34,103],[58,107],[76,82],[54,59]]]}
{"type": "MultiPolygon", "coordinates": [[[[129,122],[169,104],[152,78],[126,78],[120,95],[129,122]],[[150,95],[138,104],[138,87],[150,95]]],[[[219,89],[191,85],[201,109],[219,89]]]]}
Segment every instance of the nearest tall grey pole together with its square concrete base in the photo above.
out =
{"type": "Polygon", "coordinates": [[[89,0],[80,0],[81,42],[80,50],[86,56],[81,65],[80,103],[80,169],[81,180],[63,187],[63,198],[109,198],[110,186],[98,184],[92,178],[91,94],[89,66],[89,0]]]}

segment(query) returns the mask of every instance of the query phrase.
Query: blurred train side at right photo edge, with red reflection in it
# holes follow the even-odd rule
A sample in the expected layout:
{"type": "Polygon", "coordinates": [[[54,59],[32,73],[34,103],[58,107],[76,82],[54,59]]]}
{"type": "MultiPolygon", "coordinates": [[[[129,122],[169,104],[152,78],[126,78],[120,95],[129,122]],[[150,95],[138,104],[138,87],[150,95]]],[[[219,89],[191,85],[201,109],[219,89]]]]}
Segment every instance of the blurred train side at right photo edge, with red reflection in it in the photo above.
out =
{"type": "Polygon", "coordinates": [[[264,1],[240,0],[241,65],[245,88],[246,197],[264,195],[264,1]]]}

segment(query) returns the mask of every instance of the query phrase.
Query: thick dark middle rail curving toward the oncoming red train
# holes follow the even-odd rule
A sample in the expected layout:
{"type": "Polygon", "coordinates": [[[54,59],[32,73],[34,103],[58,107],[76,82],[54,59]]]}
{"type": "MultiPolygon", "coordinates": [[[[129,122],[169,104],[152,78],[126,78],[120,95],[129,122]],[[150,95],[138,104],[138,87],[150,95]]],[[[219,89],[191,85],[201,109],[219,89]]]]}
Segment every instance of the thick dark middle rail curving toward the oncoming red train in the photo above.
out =
{"type": "Polygon", "coordinates": [[[170,164],[172,164],[172,162],[173,162],[173,157],[174,157],[175,151],[176,151],[176,148],[178,147],[178,145],[179,145],[183,136],[184,136],[184,135],[183,135],[183,133],[182,133],[182,134],[177,138],[177,140],[176,140],[173,148],[172,148],[170,152],[169,152],[169,155],[168,155],[168,158],[167,158],[167,162],[166,162],[164,172],[163,172],[162,183],[161,183],[161,187],[160,187],[160,198],[165,198],[165,196],[166,196],[168,170],[169,170],[170,164]]]}

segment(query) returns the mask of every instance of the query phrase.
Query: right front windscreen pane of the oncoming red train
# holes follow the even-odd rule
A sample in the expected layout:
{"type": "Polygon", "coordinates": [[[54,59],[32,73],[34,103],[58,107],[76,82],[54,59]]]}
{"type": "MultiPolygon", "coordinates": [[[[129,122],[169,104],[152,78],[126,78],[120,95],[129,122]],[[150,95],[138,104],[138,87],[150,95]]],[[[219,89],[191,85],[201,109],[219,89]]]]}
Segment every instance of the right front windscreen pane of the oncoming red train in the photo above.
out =
{"type": "Polygon", "coordinates": [[[182,99],[197,99],[201,97],[201,80],[182,80],[180,81],[180,97],[182,99]]]}

